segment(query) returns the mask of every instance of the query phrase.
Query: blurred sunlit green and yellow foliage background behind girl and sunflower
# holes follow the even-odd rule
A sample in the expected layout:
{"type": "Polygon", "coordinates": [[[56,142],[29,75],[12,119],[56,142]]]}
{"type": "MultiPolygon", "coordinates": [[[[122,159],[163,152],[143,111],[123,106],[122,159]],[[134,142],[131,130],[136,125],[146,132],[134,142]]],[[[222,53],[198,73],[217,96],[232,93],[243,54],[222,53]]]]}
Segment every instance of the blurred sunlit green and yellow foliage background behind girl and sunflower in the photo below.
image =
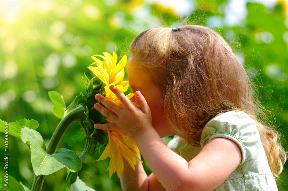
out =
{"type": "MultiPolygon", "coordinates": [[[[283,134],[281,141],[286,144],[287,6],[287,1],[268,0],[1,0],[0,118],[7,122],[37,120],[37,131],[47,145],[60,121],[51,112],[48,91],[58,91],[69,105],[79,92],[85,92],[82,76],[84,72],[91,74],[87,68],[93,62],[90,56],[102,51],[123,56],[132,39],[143,30],[152,26],[176,27],[177,20],[189,15],[191,24],[213,28],[230,44],[257,86],[260,101],[275,113],[274,120],[283,134]]],[[[80,154],[84,148],[80,144],[85,136],[82,132],[80,125],[73,123],[58,148],[80,154]]],[[[3,150],[4,136],[0,134],[3,150]]],[[[10,137],[9,150],[9,175],[31,188],[33,171],[28,146],[10,137]]],[[[116,174],[109,180],[108,161],[93,162],[99,156],[96,152],[83,162],[79,177],[97,191],[121,190],[116,174]]],[[[286,163],[277,182],[279,190],[288,190],[287,168],[286,163]]],[[[151,172],[147,165],[145,170],[151,172]]],[[[61,169],[47,175],[42,190],[68,190],[66,173],[61,169]]]]}

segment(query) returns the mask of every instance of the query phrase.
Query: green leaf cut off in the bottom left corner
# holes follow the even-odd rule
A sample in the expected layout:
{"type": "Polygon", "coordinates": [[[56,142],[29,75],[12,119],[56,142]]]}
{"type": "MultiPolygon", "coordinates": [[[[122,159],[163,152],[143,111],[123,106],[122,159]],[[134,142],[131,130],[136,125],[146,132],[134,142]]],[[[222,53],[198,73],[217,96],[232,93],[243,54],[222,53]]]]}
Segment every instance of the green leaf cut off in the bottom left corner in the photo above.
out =
{"type": "Polygon", "coordinates": [[[5,177],[6,174],[0,173],[0,190],[2,191],[25,191],[23,186],[12,176],[8,175],[8,180],[5,177]],[[8,181],[8,182],[5,182],[8,181]],[[5,186],[5,184],[7,186],[5,186]]]}

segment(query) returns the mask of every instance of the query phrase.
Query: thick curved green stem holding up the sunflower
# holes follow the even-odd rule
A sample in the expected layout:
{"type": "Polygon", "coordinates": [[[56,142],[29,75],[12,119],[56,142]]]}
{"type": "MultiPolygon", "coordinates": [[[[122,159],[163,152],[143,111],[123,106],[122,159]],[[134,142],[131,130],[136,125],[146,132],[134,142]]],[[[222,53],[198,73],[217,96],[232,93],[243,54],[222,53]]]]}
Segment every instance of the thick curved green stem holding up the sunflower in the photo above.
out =
{"type": "MultiPolygon", "coordinates": [[[[83,108],[82,106],[79,106],[72,111],[70,111],[57,125],[50,142],[47,147],[47,154],[53,154],[56,150],[56,147],[66,131],[66,129],[69,127],[71,123],[74,121],[84,121],[86,120],[86,115],[84,112],[86,111],[86,108],[83,108]]],[[[31,191],[40,191],[42,188],[43,181],[45,179],[45,175],[38,175],[34,176],[33,185],[31,188],[31,191]]]]}

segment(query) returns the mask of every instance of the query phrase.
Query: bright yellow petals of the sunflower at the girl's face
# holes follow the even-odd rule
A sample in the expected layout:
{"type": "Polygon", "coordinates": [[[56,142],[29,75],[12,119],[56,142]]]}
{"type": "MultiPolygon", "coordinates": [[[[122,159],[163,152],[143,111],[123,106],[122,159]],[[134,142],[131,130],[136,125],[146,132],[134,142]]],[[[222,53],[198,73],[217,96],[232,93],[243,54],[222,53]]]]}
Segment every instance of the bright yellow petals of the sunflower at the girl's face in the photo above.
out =
{"type": "MultiPolygon", "coordinates": [[[[127,63],[126,55],[120,60],[120,62],[116,65],[117,62],[117,55],[113,52],[113,56],[107,52],[103,52],[104,56],[101,55],[94,55],[103,58],[105,61],[101,61],[98,58],[94,59],[94,63],[97,67],[92,67],[91,65],[88,67],[104,84],[104,91],[105,91],[105,98],[109,99],[114,104],[122,106],[120,100],[115,96],[115,94],[109,89],[110,85],[115,85],[121,92],[127,91],[129,87],[128,81],[122,81],[124,78],[124,67],[127,63]],[[123,87],[125,85],[125,87],[123,87]]],[[[127,95],[129,99],[131,99],[135,93],[130,93],[127,95]]],[[[132,102],[132,101],[131,101],[132,102]]],[[[140,106],[134,102],[132,102],[137,108],[140,106]]],[[[110,112],[112,110],[108,109],[110,112]]],[[[111,119],[106,119],[109,123],[115,123],[111,119]]],[[[103,153],[101,154],[100,158],[96,161],[101,161],[107,157],[110,158],[110,163],[107,168],[109,170],[109,179],[111,178],[112,174],[117,171],[118,178],[123,173],[124,163],[122,160],[122,156],[128,162],[128,164],[135,170],[136,161],[141,161],[138,158],[137,153],[140,153],[135,141],[124,135],[120,131],[106,131],[108,133],[108,144],[105,147],[103,153]]]]}

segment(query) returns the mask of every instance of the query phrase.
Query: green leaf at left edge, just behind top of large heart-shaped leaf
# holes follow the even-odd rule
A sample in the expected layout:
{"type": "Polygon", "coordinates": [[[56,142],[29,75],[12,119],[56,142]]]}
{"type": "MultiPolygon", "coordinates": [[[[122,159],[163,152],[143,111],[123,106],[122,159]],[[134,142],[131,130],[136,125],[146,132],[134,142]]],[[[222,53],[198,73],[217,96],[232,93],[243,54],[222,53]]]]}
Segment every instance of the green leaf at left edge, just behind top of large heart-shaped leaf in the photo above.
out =
{"type": "MultiPolygon", "coordinates": [[[[0,119],[0,132],[4,133],[4,126],[6,126],[5,122],[0,119]]],[[[38,126],[39,126],[38,122],[35,119],[29,120],[29,119],[24,118],[20,121],[16,121],[15,123],[9,123],[8,132],[9,132],[9,135],[12,135],[21,139],[21,129],[23,127],[28,127],[28,128],[35,130],[38,128],[38,126]]]]}

